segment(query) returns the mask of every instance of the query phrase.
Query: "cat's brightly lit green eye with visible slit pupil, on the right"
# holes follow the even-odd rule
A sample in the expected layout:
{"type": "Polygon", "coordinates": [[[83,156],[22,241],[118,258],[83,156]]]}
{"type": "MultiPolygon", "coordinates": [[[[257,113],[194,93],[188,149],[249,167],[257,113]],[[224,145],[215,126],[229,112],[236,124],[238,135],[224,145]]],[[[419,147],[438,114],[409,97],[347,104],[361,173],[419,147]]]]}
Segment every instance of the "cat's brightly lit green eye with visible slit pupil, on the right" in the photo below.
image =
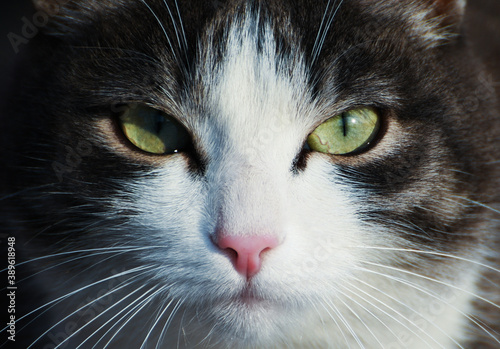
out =
{"type": "Polygon", "coordinates": [[[379,128],[380,116],[375,109],[353,109],[319,125],[307,138],[307,144],[321,153],[347,155],[365,149],[379,128]]]}

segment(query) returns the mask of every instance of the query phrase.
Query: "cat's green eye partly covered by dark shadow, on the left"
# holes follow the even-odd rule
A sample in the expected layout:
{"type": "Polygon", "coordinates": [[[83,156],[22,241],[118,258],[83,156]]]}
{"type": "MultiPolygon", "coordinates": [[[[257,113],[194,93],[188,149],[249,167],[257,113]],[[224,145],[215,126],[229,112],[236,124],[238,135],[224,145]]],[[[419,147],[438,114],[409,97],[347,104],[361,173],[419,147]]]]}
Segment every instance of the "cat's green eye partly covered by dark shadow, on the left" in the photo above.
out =
{"type": "Polygon", "coordinates": [[[130,104],[119,121],[128,140],[148,153],[177,153],[191,142],[188,132],[179,122],[150,107],[130,104]]]}

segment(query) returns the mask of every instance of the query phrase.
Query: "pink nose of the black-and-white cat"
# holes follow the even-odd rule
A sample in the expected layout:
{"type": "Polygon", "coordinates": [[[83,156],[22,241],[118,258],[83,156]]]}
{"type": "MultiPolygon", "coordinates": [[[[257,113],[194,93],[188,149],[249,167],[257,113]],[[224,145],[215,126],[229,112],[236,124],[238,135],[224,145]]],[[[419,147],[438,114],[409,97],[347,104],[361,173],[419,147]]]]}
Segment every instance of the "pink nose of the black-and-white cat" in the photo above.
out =
{"type": "Polygon", "coordinates": [[[217,245],[231,253],[236,271],[250,278],[259,272],[263,252],[275,248],[279,242],[271,236],[224,236],[217,245]]]}

